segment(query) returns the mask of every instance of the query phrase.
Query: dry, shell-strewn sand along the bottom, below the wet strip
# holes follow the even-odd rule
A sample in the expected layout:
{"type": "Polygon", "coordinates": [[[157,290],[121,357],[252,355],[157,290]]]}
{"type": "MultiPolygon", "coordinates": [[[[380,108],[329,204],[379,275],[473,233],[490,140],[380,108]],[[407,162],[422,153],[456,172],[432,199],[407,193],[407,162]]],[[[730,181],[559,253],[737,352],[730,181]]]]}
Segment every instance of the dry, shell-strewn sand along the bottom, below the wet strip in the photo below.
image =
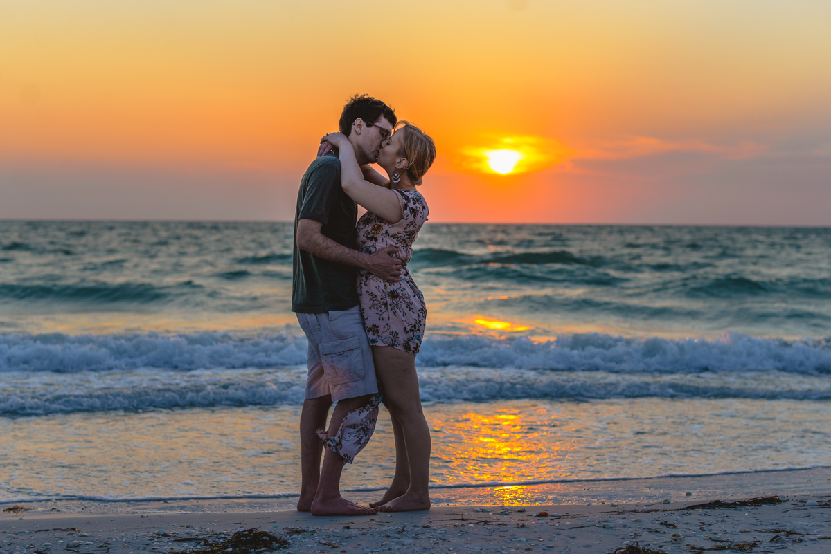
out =
{"type": "MultiPolygon", "coordinates": [[[[612,552],[633,542],[664,552],[831,552],[831,495],[748,508],[690,503],[439,507],[429,512],[316,518],[307,513],[60,513],[0,517],[0,554],[184,552],[258,528],[277,552],[612,552]],[[547,515],[536,515],[540,512],[547,515]]],[[[701,503],[701,501],[696,501],[701,503]]],[[[25,505],[25,506],[34,506],[25,505]]],[[[231,552],[234,552],[233,550],[231,552]]],[[[236,551],[240,552],[240,551],[236,551]]]]}

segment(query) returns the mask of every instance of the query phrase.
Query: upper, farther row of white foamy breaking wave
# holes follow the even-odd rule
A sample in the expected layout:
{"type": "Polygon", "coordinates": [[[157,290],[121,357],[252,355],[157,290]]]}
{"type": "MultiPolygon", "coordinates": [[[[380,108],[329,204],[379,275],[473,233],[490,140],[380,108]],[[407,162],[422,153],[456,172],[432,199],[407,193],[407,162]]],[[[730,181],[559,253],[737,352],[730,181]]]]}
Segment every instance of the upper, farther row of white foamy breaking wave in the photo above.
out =
{"type": "MultiPolygon", "coordinates": [[[[154,367],[176,371],[298,366],[307,341],[292,333],[0,336],[0,372],[101,372],[154,367]]],[[[777,371],[831,374],[831,339],[786,341],[727,333],[720,338],[628,338],[564,334],[526,337],[432,336],[420,367],[492,367],[558,372],[697,373],[777,371]]]]}

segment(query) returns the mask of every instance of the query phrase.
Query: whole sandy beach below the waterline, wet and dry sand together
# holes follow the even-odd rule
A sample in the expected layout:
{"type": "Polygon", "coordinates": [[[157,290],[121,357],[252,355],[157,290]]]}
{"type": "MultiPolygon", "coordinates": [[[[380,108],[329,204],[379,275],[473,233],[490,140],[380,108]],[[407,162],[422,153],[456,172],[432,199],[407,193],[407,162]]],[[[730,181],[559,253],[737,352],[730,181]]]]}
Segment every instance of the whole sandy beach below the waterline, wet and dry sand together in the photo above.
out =
{"type": "MultiPolygon", "coordinates": [[[[215,552],[226,552],[234,532],[246,530],[270,533],[273,540],[282,541],[283,547],[276,552],[286,554],[608,554],[634,542],[667,554],[714,549],[829,552],[831,468],[781,471],[761,477],[721,474],[602,481],[593,483],[596,486],[589,487],[591,490],[576,486],[586,483],[569,484],[569,488],[563,488],[563,484],[501,487],[486,489],[487,497],[465,496],[465,490],[470,489],[434,489],[429,511],[371,516],[315,517],[297,513],[294,498],[19,503],[27,509],[0,512],[0,552],[89,554],[115,550],[124,554],[172,554],[210,545],[222,545],[221,551],[215,552]],[[639,501],[619,500],[627,496],[637,496],[639,501]],[[555,497],[561,500],[546,501],[555,497]],[[563,497],[570,499],[564,501],[563,497]],[[477,503],[481,498],[491,502],[477,503]],[[766,500],[760,505],[724,505],[750,498],[766,500]],[[722,504],[708,504],[715,500],[722,504]]],[[[366,503],[378,494],[345,496],[366,503]]],[[[11,506],[2,505],[2,509],[7,508],[11,506]]],[[[244,536],[237,535],[235,540],[244,536]]],[[[250,552],[238,546],[231,549],[250,552]]]]}

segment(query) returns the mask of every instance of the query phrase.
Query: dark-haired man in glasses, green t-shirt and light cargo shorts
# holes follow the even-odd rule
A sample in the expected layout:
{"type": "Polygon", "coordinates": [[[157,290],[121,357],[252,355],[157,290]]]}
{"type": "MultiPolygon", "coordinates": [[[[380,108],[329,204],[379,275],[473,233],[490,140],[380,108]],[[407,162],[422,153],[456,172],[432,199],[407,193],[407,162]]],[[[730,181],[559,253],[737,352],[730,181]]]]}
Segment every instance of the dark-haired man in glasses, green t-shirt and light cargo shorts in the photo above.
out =
{"type": "MultiPolygon", "coordinates": [[[[373,163],[397,122],[381,100],[355,95],[343,107],[340,130],[355,148],[357,162],[373,163]]],[[[292,311],[308,338],[306,400],[300,416],[302,484],[297,511],[315,515],[376,513],[341,496],[344,459],[322,441],[332,401],[337,401],[328,435],[345,416],[366,406],[378,391],[372,352],[358,305],[358,268],[389,281],[401,280],[397,248],[364,254],[357,249],[357,206],[341,188],[337,155],[317,158],[297,193],[294,216],[292,311]]]]}

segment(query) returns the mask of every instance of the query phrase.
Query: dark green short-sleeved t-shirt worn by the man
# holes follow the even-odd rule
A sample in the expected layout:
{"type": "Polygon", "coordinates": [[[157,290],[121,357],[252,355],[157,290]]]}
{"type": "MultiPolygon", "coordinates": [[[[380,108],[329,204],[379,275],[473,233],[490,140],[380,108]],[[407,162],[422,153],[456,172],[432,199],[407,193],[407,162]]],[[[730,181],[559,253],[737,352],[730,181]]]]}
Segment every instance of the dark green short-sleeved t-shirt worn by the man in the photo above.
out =
{"type": "Polygon", "coordinates": [[[358,270],[318,258],[297,248],[297,221],[312,219],[332,241],[357,250],[357,206],[341,187],[341,161],[334,154],[317,158],[303,174],[294,212],[292,311],[322,313],[358,305],[358,270]]]}

